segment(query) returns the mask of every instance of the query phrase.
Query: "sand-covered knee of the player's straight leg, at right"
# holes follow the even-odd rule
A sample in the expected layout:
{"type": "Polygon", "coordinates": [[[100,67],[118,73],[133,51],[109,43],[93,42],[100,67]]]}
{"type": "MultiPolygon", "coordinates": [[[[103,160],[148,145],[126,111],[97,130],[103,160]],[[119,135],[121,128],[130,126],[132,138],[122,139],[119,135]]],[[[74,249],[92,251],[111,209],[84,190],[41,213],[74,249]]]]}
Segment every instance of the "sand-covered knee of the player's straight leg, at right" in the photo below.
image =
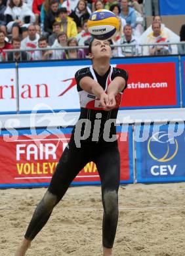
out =
{"type": "Polygon", "coordinates": [[[117,214],[118,211],[118,195],[115,190],[105,191],[103,194],[104,211],[106,215],[117,214]]]}

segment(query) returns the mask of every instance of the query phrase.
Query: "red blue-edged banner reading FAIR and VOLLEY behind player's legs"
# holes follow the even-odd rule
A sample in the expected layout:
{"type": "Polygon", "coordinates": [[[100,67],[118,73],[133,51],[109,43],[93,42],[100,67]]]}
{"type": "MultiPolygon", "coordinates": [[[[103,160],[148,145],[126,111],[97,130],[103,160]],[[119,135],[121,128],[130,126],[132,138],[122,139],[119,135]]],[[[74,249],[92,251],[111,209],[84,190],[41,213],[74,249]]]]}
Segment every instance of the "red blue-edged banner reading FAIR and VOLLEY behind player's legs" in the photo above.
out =
{"type": "MultiPolygon", "coordinates": [[[[72,128],[1,131],[0,188],[48,186],[72,128]]],[[[133,182],[132,130],[117,127],[121,156],[121,183],[133,182]],[[121,139],[122,138],[122,139],[121,139]]],[[[89,148],[91,150],[91,148],[89,148]]],[[[96,165],[88,163],[73,185],[100,184],[96,165]]]]}

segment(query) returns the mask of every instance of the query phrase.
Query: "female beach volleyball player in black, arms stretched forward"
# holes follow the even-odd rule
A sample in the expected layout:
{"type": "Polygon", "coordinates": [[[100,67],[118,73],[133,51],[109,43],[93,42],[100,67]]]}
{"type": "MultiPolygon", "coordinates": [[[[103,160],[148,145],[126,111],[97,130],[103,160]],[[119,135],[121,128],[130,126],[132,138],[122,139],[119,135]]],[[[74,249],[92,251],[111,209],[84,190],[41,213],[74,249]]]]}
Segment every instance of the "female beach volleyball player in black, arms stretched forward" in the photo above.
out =
{"type": "MultiPolygon", "coordinates": [[[[92,66],[82,68],[75,74],[81,104],[79,120],[15,256],[26,255],[31,241],[47,223],[54,206],[60,202],[79,171],[90,161],[96,163],[102,184],[103,255],[112,255],[120,178],[115,121],[128,75],[125,70],[110,66],[112,53],[107,40],[93,39],[89,45],[89,56],[92,66]]],[[[88,252],[84,255],[88,255],[88,252]]]]}

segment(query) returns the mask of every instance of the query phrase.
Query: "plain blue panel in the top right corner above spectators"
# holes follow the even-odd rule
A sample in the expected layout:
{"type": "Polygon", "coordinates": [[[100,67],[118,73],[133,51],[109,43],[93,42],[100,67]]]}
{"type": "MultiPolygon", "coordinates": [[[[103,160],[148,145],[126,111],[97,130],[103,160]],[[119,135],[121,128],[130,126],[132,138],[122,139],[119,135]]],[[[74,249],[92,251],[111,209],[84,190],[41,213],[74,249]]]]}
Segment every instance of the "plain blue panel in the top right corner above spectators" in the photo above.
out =
{"type": "Polygon", "coordinates": [[[159,0],[160,15],[184,15],[184,0],[159,0]]]}

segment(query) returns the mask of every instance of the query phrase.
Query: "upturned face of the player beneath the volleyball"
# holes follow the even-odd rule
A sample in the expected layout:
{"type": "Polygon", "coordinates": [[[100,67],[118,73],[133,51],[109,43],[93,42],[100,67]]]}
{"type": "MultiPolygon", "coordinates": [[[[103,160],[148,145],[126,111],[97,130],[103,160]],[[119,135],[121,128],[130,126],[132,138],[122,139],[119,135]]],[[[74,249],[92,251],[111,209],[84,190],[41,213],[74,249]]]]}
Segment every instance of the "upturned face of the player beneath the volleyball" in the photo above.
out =
{"type": "Polygon", "coordinates": [[[112,52],[110,48],[110,42],[108,40],[94,39],[91,47],[92,58],[111,58],[112,52]]]}

